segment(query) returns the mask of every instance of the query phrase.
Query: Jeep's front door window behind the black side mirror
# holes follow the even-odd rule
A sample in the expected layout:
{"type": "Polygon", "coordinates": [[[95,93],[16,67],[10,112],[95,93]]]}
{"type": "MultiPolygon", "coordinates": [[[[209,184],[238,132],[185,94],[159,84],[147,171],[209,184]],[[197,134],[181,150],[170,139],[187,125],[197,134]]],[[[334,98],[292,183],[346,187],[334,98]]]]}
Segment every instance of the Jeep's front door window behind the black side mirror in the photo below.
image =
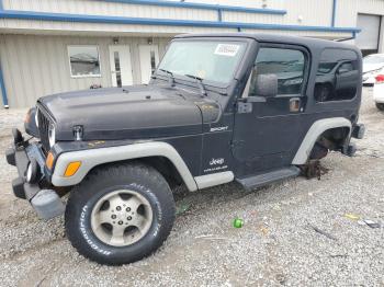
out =
{"type": "Polygon", "coordinates": [[[278,94],[301,94],[304,82],[305,56],[302,50],[261,47],[256,58],[249,95],[257,95],[257,77],[275,74],[278,94]]]}

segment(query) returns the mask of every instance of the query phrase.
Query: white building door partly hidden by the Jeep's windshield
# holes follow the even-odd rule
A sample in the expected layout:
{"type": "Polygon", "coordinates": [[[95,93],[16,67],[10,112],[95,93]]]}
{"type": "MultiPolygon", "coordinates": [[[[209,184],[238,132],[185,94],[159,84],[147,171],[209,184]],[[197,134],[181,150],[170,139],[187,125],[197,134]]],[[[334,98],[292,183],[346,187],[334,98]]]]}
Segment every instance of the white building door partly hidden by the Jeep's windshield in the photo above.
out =
{"type": "Polygon", "coordinates": [[[142,83],[148,83],[150,76],[159,64],[159,48],[156,45],[140,45],[138,49],[140,56],[142,83]]]}

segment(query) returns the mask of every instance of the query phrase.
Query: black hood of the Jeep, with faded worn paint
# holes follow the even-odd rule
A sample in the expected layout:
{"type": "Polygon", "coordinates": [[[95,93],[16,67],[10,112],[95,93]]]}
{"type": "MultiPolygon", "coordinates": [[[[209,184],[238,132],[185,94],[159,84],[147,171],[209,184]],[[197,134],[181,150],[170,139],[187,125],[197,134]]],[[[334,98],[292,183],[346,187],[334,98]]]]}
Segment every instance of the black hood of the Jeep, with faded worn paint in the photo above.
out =
{"type": "Polygon", "coordinates": [[[53,117],[57,140],[74,140],[74,126],[83,127],[83,140],[200,134],[203,123],[216,120],[221,113],[207,97],[158,85],[60,93],[38,103],[53,117]]]}

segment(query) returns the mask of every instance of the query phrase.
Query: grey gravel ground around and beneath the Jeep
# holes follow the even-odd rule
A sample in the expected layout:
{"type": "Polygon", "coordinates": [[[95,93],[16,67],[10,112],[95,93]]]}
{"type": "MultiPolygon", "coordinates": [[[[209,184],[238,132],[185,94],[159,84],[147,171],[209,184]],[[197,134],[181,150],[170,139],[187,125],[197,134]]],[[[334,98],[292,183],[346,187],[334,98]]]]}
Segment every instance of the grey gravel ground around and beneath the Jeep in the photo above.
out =
{"type": "Polygon", "coordinates": [[[178,195],[165,245],[140,262],[108,267],[89,262],[65,238],[64,219],[36,218],[13,197],[3,150],[25,110],[0,111],[1,286],[384,286],[384,113],[364,89],[368,133],[357,157],[331,153],[317,180],[298,177],[247,193],[236,184],[178,195]],[[382,225],[371,228],[346,217],[382,225]],[[245,219],[241,229],[231,227],[245,219]]]}

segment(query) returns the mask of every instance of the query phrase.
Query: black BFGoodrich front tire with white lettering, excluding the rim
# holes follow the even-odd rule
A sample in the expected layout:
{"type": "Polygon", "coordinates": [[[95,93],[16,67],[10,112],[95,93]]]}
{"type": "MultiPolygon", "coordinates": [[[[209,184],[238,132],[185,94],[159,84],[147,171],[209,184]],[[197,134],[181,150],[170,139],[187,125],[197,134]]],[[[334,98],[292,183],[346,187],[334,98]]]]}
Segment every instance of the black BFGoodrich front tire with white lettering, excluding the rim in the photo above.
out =
{"type": "Polygon", "coordinates": [[[101,264],[121,265],[138,261],[155,252],[169,236],[176,206],[171,190],[162,175],[140,162],[106,165],[93,170],[70,194],[65,213],[66,233],[83,256],[101,264]],[[147,233],[126,246],[102,242],[91,228],[92,209],[106,194],[128,188],[145,197],[153,209],[147,233]]]}

